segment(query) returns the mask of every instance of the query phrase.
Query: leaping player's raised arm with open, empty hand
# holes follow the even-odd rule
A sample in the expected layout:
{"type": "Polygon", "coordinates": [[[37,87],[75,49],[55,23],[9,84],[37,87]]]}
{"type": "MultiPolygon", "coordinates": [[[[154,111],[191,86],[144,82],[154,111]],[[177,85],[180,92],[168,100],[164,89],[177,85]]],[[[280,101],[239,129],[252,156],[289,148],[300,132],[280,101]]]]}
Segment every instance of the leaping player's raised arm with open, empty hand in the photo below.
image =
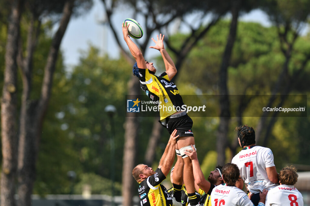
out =
{"type": "Polygon", "coordinates": [[[150,46],[149,48],[157,49],[162,54],[162,59],[164,60],[165,67],[166,67],[166,73],[171,80],[175,74],[177,73],[177,70],[175,68],[175,64],[173,63],[171,57],[169,56],[168,52],[165,49],[164,46],[164,37],[165,35],[160,34],[159,37],[157,35],[157,41],[152,38],[152,40],[155,42],[155,46],[150,46]]]}

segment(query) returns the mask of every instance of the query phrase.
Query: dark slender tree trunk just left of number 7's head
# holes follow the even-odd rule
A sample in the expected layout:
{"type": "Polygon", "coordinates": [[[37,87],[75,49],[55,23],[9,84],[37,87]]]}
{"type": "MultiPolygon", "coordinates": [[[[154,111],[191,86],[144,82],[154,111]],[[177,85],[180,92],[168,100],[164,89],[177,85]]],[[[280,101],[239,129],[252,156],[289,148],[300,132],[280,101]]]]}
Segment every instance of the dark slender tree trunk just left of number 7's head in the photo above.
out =
{"type": "Polygon", "coordinates": [[[230,24],[227,44],[223,54],[222,65],[219,70],[220,118],[216,139],[217,164],[219,165],[224,165],[225,163],[225,148],[227,147],[228,142],[227,134],[230,121],[230,108],[227,88],[227,69],[231,58],[232,48],[236,39],[240,0],[232,1],[232,3],[232,21],[230,24]]]}

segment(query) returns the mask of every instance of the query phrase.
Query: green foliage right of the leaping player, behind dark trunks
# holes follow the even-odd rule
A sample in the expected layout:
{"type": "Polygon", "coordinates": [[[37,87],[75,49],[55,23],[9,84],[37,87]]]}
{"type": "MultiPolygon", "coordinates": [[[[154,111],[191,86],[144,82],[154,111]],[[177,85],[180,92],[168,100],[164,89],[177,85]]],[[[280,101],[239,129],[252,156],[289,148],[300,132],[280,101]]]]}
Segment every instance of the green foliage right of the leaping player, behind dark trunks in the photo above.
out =
{"type": "MultiPolygon", "coordinates": [[[[179,91],[182,95],[214,95],[217,93],[218,70],[226,44],[228,28],[228,21],[220,21],[210,29],[206,37],[198,42],[197,47],[189,54],[177,81],[179,91]]],[[[175,37],[170,37],[170,39],[174,38],[176,41],[175,44],[177,45],[184,37],[184,34],[178,34],[175,37]]],[[[309,51],[309,43],[308,36],[299,37],[297,39],[289,65],[290,74],[294,74],[294,72],[299,69],[302,61],[306,58],[309,51]]],[[[283,63],[285,62],[285,58],[279,49],[279,44],[277,32],[274,27],[266,28],[257,23],[239,22],[237,38],[232,51],[231,67],[228,69],[228,89],[231,95],[252,95],[251,99],[244,102],[245,108],[241,120],[254,128],[258,124],[261,115],[260,107],[262,105],[262,99],[257,95],[268,95],[271,93],[282,70],[283,63]],[[258,113],[255,113],[253,116],[251,112],[256,108],[260,109],[258,113]]],[[[309,81],[309,72],[310,67],[308,64],[304,71],[304,75],[301,75],[300,81],[297,81],[294,88],[292,88],[294,94],[305,94],[309,92],[309,87],[305,84],[309,81]]],[[[234,96],[231,96],[230,100],[232,114],[236,115],[241,100],[234,96]]],[[[267,100],[268,96],[266,96],[265,101],[267,100]]],[[[217,110],[217,104],[217,102],[206,104],[207,110],[217,110]]],[[[291,107],[294,105],[292,105],[290,101],[286,101],[285,106],[291,107]]],[[[288,141],[288,136],[296,132],[293,127],[300,128],[301,126],[293,124],[294,126],[286,127],[286,124],[289,124],[288,122],[299,122],[302,121],[302,119],[303,118],[278,118],[272,136],[270,137],[272,140],[268,141],[268,143],[274,150],[275,157],[281,156],[281,152],[283,151],[287,151],[287,155],[275,158],[277,159],[277,165],[285,164],[287,161],[295,163],[305,161],[305,158],[303,158],[305,152],[302,157],[299,157],[296,153],[294,155],[292,154],[293,148],[296,148],[297,145],[303,148],[300,149],[300,151],[305,150],[304,145],[299,142],[307,142],[304,139],[305,136],[299,136],[298,140],[292,144],[288,141]],[[279,135],[282,129],[286,135],[279,135]],[[272,144],[277,145],[277,148],[272,144]],[[288,145],[290,145],[290,148],[288,148],[288,145]]],[[[239,118],[233,116],[229,126],[228,137],[233,144],[235,144],[236,141],[234,129],[236,126],[239,126],[238,121],[239,118]]],[[[308,122],[308,119],[304,119],[303,121],[308,122]]],[[[212,152],[215,148],[218,118],[197,117],[193,118],[193,122],[195,143],[199,145],[197,146],[198,158],[202,160],[203,157],[205,157],[210,162],[213,162],[214,157],[210,157],[209,151],[212,152]],[[207,128],[209,128],[209,130],[207,128]]],[[[229,155],[227,157],[229,157],[229,155]]],[[[206,161],[204,161],[203,164],[205,168],[206,161]]],[[[210,172],[209,167],[204,170],[209,170],[207,172],[210,172]]]]}

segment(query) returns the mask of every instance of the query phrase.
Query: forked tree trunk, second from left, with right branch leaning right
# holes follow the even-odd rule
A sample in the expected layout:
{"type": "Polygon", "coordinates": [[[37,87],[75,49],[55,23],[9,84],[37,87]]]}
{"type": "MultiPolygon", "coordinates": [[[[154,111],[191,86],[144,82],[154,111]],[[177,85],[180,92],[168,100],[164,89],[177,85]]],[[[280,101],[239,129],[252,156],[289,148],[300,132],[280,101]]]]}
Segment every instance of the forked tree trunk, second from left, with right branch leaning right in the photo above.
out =
{"type": "MultiPolygon", "coordinates": [[[[74,0],[69,0],[64,4],[63,16],[59,28],[53,37],[51,48],[47,57],[47,64],[44,68],[44,78],[42,83],[41,97],[38,101],[29,99],[31,74],[31,63],[28,60],[24,64],[23,84],[28,85],[23,90],[20,113],[20,135],[19,135],[19,155],[18,155],[18,195],[19,206],[31,205],[31,194],[33,183],[36,178],[36,160],[38,153],[39,139],[42,134],[42,124],[47,110],[48,101],[51,96],[53,74],[60,48],[61,40],[67,29],[74,0]],[[27,67],[28,65],[28,67],[27,67]],[[28,75],[27,75],[28,74],[28,75]]],[[[31,42],[31,41],[30,41],[31,42]]],[[[32,50],[33,51],[33,50],[32,50]]],[[[28,54],[32,55],[32,54],[28,54]]]]}

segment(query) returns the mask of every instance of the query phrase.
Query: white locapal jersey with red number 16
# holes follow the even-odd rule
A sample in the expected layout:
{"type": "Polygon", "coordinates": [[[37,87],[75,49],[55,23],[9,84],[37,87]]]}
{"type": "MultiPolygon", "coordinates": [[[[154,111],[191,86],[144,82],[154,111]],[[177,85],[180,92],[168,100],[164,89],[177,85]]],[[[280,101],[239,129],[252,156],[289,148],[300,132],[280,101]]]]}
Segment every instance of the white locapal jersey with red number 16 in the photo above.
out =
{"type": "Polygon", "coordinates": [[[248,195],[237,187],[221,184],[211,192],[212,206],[254,206],[248,195]]]}

